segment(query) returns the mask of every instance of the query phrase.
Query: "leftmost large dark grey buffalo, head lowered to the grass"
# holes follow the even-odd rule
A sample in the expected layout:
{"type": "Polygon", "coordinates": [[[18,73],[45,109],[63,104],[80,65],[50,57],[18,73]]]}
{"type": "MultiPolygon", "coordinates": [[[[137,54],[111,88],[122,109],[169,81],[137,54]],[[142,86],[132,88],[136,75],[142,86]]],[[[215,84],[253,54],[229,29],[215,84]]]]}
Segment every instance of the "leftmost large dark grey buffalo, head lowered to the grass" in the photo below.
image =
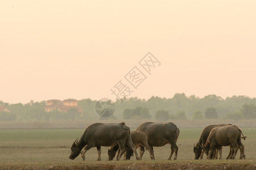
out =
{"type": "Polygon", "coordinates": [[[76,139],[71,147],[71,155],[69,159],[75,159],[82,151],[82,159],[85,159],[85,153],[92,147],[97,147],[98,159],[101,160],[101,146],[115,146],[118,145],[121,148],[121,154],[118,160],[121,158],[123,152],[125,152],[125,145],[129,146],[139,159],[135,146],[131,142],[130,128],[125,123],[120,124],[101,124],[96,123],[88,126],[80,139],[76,139]]]}

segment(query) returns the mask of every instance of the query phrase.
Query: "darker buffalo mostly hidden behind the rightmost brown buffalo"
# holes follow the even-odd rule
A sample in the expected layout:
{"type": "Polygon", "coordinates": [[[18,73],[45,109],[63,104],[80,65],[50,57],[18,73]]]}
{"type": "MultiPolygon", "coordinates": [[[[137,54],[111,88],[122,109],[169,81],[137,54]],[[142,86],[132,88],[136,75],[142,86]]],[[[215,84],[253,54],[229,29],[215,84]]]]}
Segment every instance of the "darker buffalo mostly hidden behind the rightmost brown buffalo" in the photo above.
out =
{"type": "MultiPolygon", "coordinates": [[[[232,124],[218,124],[218,125],[209,125],[207,127],[204,128],[204,130],[202,131],[201,133],[201,136],[199,138],[199,142],[196,143],[196,145],[194,145],[194,153],[195,153],[195,159],[203,159],[203,156],[204,156],[204,151],[203,151],[203,146],[205,145],[205,143],[207,142],[207,138],[210,134],[210,131],[213,129],[213,128],[216,128],[216,127],[221,127],[221,126],[226,126],[226,125],[232,125],[232,124]]],[[[222,146],[221,147],[218,147],[214,150],[214,154],[212,154],[212,156],[214,158],[217,159],[217,152],[218,150],[220,150],[220,159],[222,159],[222,146]]],[[[231,152],[231,150],[230,150],[231,152]]],[[[231,153],[230,153],[231,154],[231,153]]]]}

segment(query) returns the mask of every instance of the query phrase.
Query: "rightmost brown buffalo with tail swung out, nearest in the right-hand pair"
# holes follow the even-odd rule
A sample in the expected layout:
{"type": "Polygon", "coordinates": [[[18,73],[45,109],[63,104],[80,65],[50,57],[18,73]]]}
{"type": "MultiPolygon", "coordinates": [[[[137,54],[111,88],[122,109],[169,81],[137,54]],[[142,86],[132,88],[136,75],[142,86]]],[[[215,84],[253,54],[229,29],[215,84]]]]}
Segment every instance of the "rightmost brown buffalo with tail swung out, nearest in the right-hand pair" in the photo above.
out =
{"type": "MultiPolygon", "coordinates": [[[[235,159],[238,148],[240,149],[240,159],[245,159],[244,146],[241,142],[242,130],[236,125],[227,125],[213,128],[210,131],[207,142],[205,143],[205,151],[207,152],[207,159],[210,159],[214,147],[230,146],[232,145],[231,158],[235,159]]],[[[246,137],[242,137],[245,139],[246,137]]]]}

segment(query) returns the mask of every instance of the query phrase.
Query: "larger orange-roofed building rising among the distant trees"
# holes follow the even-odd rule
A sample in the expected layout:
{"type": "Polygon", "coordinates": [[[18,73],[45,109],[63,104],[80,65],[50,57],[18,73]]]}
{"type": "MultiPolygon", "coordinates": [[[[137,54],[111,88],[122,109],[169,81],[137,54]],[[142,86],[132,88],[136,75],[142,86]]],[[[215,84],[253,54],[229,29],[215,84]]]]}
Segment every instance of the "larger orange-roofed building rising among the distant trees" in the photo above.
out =
{"type": "Polygon", "coordinates": [[[51,112],[53,110],[59,110],[60,112],[68,112],[71,108],[77,108],[78,112],[82,112],[82,109],[77,105],[76,99],[66,99],[66,100],[47,100],[46,101],[46,112],[51,112]]]}

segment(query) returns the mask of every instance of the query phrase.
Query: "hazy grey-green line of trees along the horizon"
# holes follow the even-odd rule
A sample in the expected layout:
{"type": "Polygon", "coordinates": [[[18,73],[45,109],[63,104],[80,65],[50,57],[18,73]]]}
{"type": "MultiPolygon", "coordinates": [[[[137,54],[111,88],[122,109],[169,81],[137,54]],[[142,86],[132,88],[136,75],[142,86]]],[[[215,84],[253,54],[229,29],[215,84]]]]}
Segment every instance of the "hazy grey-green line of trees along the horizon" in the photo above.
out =
{"type": "MultiPolygon", "coordinates": [[[[0,101],[10,112],[1,111],[0,121],[53,121],[53,120],[88,120],[99,119],[95,112],[97,101],[82,99],[78,101],[82,112],[71,108],[67,112],[53,110],[46,112],[46,101],[27,104],[9,104],[0,101]]],[[[233,96],[222,99],[220,96],[208,95],[203,98],[195,95],[175,94],[167,99],[152,96],[150,99],[131,97],[114,101],[115,111],[112,117],[117,119],[155,119],[167,121],[173,119],[250,119],[256,118],[256,98],[233,96]]]]}

